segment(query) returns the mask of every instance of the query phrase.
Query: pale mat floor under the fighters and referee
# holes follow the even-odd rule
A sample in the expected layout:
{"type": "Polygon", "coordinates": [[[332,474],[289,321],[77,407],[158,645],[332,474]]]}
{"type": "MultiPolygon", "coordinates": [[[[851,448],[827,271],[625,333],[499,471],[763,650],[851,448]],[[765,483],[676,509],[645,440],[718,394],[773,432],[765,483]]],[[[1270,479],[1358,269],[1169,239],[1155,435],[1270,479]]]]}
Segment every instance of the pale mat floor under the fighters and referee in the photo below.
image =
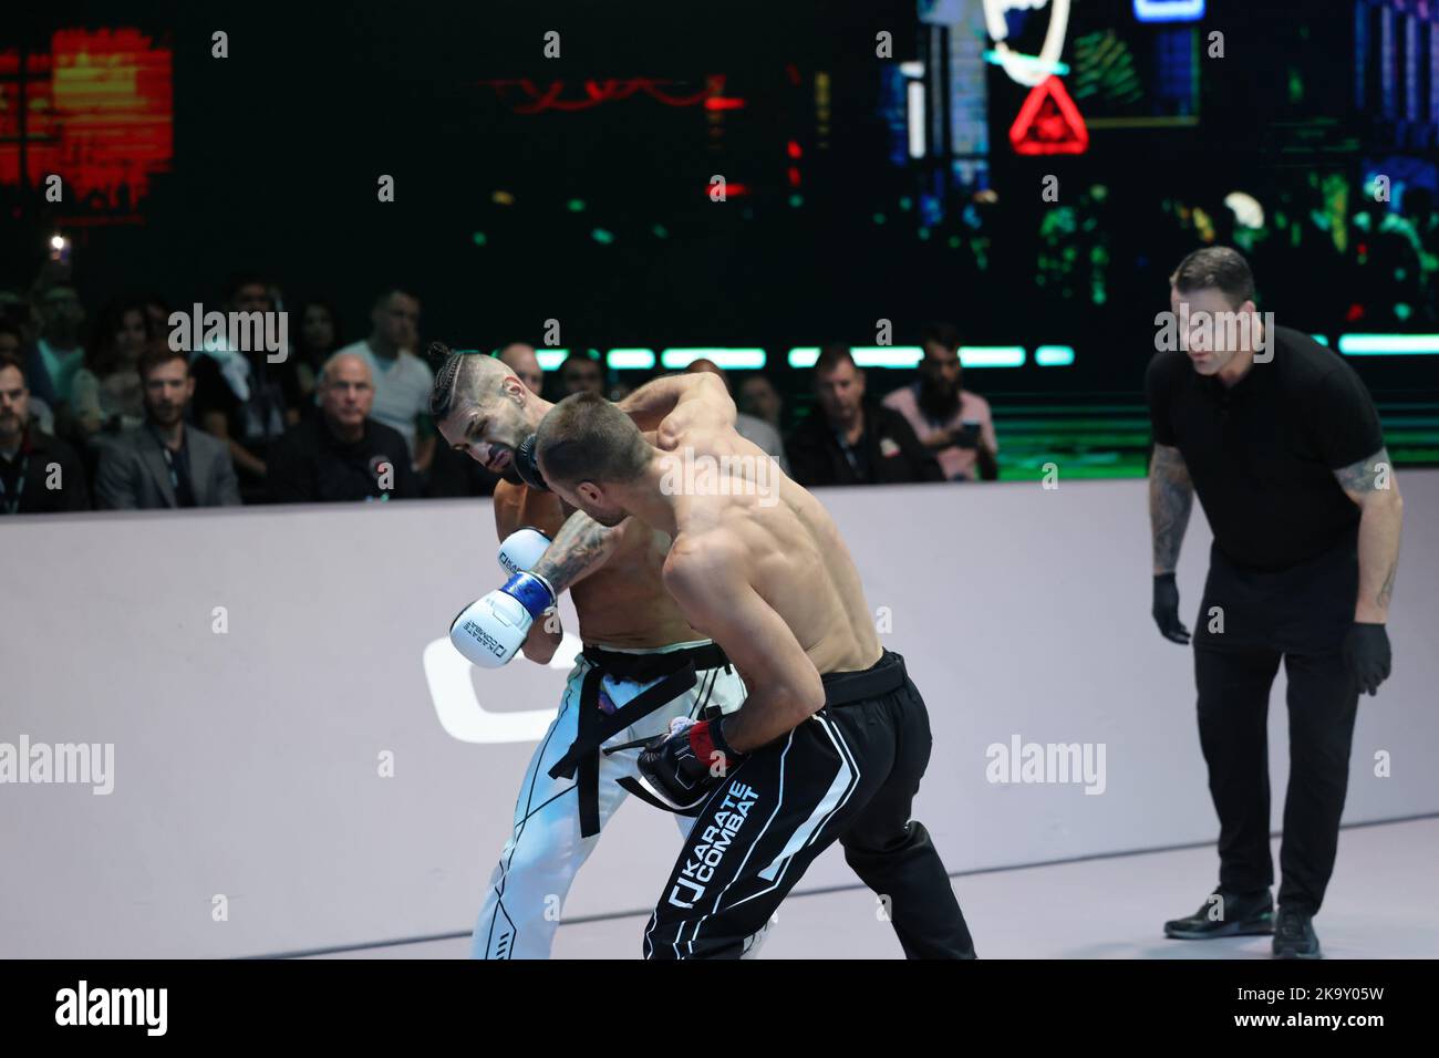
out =
{"type": "MultiPolygon", "coordinates": [[[[1275,864],[1279,845],[1274,848],[1275,864]]],[[[981,959],[1268,959],[1268,937],[1167,940],[1160,927],[1213,888],[1213,848],[1145,852],[954,880],[981,959]]],[[[580,880],[583,885],[583,878],[580,880]]],[[[560,927],[557,959],[637,959],[646,914],[560,927]]],[[[1439,819],[1345,828],[1321,914],[1330,959],[1439,957],[1439,819]]],[[[469,939],[387,944],[330,959],[463,959],[469,939]]],[[[865,888],[791,895],[766,959],[899,959],[865,888]]]]}

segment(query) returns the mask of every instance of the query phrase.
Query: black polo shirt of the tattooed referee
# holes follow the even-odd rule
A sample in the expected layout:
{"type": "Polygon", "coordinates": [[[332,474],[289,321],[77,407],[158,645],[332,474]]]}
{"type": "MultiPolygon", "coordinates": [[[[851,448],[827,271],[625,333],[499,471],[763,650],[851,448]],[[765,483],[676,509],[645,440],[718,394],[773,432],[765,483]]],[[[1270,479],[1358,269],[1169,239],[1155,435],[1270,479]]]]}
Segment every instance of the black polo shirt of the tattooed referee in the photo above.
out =
{"type": "Polygon", "coordinates": [[[1154,440],[1184,456],[1215,533],[1196,641],[1279,649],[1333,646],[1354,616],[1360,510],[1337,469],[1384,446],[1374,403],[1344,360],[1276,327],[1274,360],[1233,386],[1181,351],[1145,376],[1154,440]],[[1210,607],[1225,632],[1209,632],[1210,607]]]}

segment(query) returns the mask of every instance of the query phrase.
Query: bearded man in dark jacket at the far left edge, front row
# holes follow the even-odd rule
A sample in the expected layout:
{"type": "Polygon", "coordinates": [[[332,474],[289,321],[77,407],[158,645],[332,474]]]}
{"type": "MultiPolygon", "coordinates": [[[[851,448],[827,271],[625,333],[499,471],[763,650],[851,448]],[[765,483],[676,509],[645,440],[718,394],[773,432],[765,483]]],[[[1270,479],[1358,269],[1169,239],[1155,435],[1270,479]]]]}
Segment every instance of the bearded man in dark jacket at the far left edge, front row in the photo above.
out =
{"type": "Polygon", "coordinates": [[[30,387],[19,357],[0,353],[0,514],[89,510],[75,449],[30,422],[30,387]]]}

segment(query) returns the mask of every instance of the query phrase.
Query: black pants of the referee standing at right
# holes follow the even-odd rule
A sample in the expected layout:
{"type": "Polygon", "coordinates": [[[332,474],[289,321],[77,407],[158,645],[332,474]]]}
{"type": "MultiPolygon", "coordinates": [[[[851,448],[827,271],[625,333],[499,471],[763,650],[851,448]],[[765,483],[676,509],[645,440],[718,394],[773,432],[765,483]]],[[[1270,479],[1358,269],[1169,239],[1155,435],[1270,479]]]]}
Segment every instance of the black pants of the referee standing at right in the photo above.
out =
{"type": "Polygon", "coordinates": [[[1266,890],[1274,884],[1266,724],[1281,658],[1289,681],[1289,789],[1279,904],[1315,914],[1334,871],[1358,707],[1343,655],[1197,646],[1199,738],[1219,813],[1219,885],[1226,892],[1266,890]]]}

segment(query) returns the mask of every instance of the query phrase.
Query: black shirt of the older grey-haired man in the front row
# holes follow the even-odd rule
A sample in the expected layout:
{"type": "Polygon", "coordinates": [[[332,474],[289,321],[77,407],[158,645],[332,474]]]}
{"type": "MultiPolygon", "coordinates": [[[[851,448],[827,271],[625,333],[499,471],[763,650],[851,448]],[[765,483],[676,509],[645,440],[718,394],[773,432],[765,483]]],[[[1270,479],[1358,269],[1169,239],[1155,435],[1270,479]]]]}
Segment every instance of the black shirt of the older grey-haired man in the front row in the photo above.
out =
{"type": "Polygon", "coordinates": [[[404,438],[384,423],[366,419],[364,436],[345,443],[324,419],[302,422],[271,449],[269,498],[276,504],[354,499],[412,499],[420,494],[404,438]],[[380,487],[386,466],[393,487],[380,487]]]}

